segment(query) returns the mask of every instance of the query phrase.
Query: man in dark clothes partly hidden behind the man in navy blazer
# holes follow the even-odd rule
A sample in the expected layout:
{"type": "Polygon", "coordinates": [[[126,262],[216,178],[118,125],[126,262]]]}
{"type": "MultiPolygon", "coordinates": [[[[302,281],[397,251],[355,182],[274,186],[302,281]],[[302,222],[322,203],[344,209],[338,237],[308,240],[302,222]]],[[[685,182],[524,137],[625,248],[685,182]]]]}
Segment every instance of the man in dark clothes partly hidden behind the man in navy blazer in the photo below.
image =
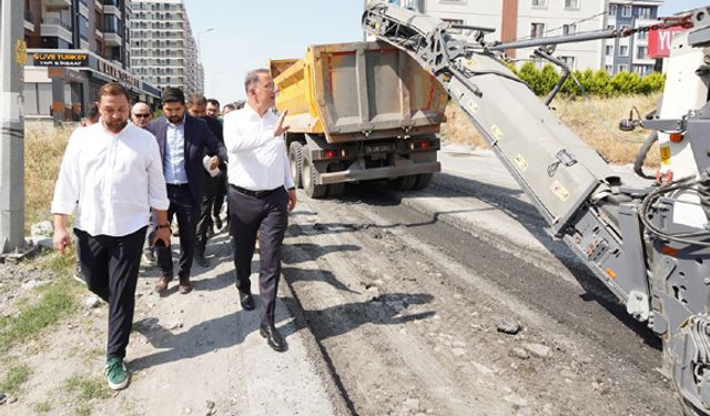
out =
{"type": "MultiPolygon", "coordinates": [[[[187,113],[190,113],[190,115],[192,116],[204,120],[215,138],[217,138],[220,142],[224,143],[224,138],[222,136],[222,123],[213,116],[207,116],[207,108],[209,101],[205,100],[204,95],[202,94],[192,94],[187,99],[187,113]]],[[[215,156],[215,154],[206,148],[204,154],[209,158],[215,156]]],[[[195,247],[195,262],[197,262],[197,265],[200,265],[201,267],[210,266],[210,262],[207,262],[207,258],[204,256],[209,239],[207,232],[212,227],[210,215],[212,213],[212,205],[216,204],[215,197],[222,194],[222,192],[220,192],[220,186],[224,186],[225,170],[226,165],[221,164],[220,172],[215,176],[212,176],[206,171],[204,172],[204,194],[200,204],[200,220],[197,221],[197,246],[195,247]]],[[[222,199],[224,199],[224,195],[222,195],[222,199]]]]}

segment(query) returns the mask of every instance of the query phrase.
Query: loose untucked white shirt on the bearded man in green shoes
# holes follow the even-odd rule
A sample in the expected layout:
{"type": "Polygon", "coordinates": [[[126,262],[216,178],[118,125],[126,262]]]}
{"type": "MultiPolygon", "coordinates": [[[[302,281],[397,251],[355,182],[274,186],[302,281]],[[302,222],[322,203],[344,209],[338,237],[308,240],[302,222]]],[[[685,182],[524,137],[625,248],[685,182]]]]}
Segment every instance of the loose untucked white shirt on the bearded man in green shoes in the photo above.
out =
{"type": "Polygon", "coordinates": [[[129,123],[119,134],[103,122],[69,139],[52,201],[90,235],[129,235],[149,223],[149,210],[168,210],[160,150],[148,131],[129,123]]]}

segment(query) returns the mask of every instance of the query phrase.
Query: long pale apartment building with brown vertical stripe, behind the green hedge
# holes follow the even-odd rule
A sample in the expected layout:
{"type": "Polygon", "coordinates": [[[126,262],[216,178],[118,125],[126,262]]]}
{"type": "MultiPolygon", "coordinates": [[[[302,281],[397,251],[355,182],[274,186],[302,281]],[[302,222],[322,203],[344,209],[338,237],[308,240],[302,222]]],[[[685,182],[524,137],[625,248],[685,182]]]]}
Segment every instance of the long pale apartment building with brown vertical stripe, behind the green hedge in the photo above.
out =
{"type": "MultiPolygon", "coordinates": [[[[442,20],[495,29],[486,39],[510,41],[574,34],[607,28],[642,27],[653,22],[663,0],[390,0],[442,20]]],[[[532,60],[534,48],[509,51],[518,64],[532,60]]],[[[576,70],[600,68],[610,73],[648,73],[656,61],[648,58],[643,33],[619,40],[560,44],[555,57],[576,70]]]]}

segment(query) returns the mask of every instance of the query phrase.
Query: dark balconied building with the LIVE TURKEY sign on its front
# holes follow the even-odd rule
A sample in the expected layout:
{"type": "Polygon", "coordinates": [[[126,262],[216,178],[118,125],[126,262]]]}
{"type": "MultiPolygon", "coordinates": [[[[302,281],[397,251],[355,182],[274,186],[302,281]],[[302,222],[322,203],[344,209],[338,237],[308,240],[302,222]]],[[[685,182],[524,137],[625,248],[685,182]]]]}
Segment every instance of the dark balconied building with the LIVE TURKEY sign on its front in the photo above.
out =
{"type": "Polygon", "coordinates": [[[129,72],[129,0],[23,0],[28,119],[79,121],[98,90],[120,81],[134,100],[159,91],[129,72]]]}

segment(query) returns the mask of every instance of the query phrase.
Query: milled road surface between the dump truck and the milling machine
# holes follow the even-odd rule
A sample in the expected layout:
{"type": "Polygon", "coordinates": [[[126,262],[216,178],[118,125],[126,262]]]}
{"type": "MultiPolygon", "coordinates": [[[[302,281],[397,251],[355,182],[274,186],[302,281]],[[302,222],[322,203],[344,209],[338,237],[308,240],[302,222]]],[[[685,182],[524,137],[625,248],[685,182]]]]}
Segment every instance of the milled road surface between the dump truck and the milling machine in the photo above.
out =
{"type": "Polygon", "coordinates": [[[352,412],[678,414],[658,341],[495,156],[439,159],[423,192],[348,185],[292,216],[284,276],[352,412]]]}

